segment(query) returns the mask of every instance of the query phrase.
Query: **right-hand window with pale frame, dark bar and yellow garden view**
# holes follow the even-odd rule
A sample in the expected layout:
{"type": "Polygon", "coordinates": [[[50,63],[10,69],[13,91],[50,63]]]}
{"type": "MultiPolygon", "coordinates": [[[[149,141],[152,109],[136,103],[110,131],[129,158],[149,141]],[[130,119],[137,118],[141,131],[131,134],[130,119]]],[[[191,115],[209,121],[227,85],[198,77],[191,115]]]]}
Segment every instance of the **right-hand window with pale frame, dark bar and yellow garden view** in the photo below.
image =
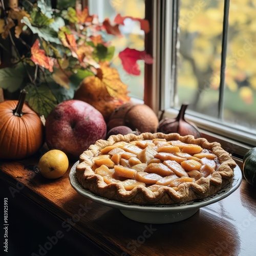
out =
{"type": "Polygon", "coordinates": [[[161,1],[167,117],[188,102],[186,119],[205,132],[256,146],[255,8],[249,0],[161,1]]]}

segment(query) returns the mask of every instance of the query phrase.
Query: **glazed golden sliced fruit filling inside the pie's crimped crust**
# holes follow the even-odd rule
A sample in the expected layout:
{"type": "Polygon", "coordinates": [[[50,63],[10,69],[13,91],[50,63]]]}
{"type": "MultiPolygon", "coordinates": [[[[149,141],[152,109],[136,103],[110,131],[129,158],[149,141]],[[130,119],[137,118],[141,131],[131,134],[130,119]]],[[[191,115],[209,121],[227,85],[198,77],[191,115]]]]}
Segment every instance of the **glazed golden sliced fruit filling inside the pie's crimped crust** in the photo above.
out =
{"type": "Polygon", "coordinates": [[[106,184],[120,183],[129,191],[146,186],[151,191],[160,187],[196,182],[218,171],[218,158],[196,144],[165,139],[117,142],[104,147],[91,157],[95,174],[106,184]]]}

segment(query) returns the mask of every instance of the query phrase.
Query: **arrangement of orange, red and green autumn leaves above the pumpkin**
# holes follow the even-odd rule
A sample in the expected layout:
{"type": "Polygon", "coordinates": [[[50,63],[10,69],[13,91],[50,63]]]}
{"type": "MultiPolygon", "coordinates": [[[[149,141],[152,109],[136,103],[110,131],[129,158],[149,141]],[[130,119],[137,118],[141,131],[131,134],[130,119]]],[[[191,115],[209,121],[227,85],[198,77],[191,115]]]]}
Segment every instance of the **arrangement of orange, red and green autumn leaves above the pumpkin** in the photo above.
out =
{"type": "MultiPolygon", "coordinates": [[[[130,100],[127,84],[111,67],[115,47],[104,38],[121,37],[125,18],[139,22],[147,33],[147,20],[118,14],[99,23],[87,7],[53,9],[48,0],[25,1],[15,8],[1,3],[0,46],[9,58],[5,62],[1,56],[0,87],[11,93],[25,89],[30,107],[45,117],[59,102],[72,99],[81,84],[96,106],[108,103],[111,110],[130,100]]],[[[130,48],[117,56],[131,75],[140,74],[137,60],[153,61],[145,51],[130,48]]]]}

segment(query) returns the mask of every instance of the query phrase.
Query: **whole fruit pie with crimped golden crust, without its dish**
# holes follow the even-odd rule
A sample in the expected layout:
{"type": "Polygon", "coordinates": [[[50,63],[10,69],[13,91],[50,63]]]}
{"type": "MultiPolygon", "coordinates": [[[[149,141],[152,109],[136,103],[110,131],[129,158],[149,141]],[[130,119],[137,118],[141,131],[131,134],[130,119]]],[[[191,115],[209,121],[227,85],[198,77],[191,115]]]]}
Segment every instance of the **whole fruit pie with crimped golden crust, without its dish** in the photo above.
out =
{"type": "Polygon", "coordinates": [[[225,187],[236,162],[220,143],[177,133],[113,135],[84,151],[79,183],[101,197],[142,205],[203,199],[225,187]]]}

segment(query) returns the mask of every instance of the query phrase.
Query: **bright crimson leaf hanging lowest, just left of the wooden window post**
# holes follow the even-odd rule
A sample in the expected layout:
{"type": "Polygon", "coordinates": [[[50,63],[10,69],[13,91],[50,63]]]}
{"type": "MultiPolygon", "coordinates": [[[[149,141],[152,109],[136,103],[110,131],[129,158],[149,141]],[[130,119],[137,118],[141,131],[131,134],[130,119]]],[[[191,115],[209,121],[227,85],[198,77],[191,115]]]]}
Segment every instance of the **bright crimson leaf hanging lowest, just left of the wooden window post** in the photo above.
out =
{"type": "Polygon", "coordinates": [[[122,61],[123,69],[131,75],[140,75],[140,68],[137,60],[144,60],[146,64],[152,64],[153,58],[145,51],[126,48],[119,53],[119,58],[122,61]]]}

